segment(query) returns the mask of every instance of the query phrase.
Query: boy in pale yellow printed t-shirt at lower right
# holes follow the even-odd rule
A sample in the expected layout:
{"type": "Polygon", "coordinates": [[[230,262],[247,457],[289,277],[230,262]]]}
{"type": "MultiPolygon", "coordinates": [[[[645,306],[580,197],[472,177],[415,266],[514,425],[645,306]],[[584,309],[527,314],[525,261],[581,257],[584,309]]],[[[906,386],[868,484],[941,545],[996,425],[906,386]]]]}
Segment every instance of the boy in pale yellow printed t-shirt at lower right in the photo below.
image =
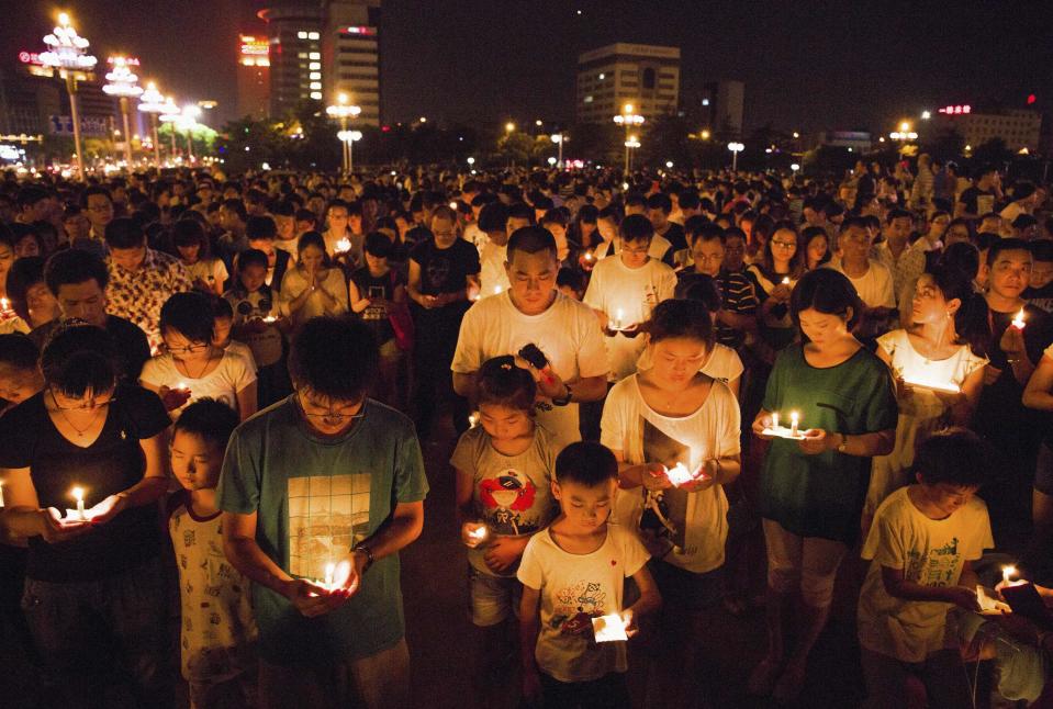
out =
{"type": "Polygon", "coordinates": [[[975,497],[985,459],[976,434],[934,434],[918,447],[917,484],[889,495],[874,515],[859,603],[867,707],[906,706],[912,678],[925,683],[930,707],[970,706],[961,655],[945,631],[953,606],[979,610],[972,564],[994,547],[987,506],[975,497]]]}

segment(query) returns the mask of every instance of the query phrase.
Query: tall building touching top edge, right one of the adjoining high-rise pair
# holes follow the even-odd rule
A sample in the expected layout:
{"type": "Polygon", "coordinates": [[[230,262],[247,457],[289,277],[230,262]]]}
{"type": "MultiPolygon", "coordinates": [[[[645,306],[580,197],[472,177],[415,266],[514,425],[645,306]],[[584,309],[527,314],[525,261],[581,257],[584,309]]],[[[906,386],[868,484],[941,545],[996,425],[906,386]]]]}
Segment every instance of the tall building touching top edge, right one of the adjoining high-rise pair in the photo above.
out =
{"type": "Polygon", "coordinates": [[[346,93],[358,120],[380,125],[380,0],[331,0],[322,30],[324,101],[346,93]]]}

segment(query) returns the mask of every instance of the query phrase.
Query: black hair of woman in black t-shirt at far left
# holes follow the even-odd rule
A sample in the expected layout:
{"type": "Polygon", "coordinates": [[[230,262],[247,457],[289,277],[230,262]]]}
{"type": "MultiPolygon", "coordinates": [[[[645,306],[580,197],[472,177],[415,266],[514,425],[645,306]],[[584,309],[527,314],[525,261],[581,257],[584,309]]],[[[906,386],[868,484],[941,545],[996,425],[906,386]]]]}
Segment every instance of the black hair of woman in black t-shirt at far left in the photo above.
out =
{"type": "Polygon", "coordinates": [[[67,396],[79,398],[89,390],[109,392],[119,372],[113,340],[93,325],[59,325],[44,344],[41,371],[48,385],[67,396]]]}

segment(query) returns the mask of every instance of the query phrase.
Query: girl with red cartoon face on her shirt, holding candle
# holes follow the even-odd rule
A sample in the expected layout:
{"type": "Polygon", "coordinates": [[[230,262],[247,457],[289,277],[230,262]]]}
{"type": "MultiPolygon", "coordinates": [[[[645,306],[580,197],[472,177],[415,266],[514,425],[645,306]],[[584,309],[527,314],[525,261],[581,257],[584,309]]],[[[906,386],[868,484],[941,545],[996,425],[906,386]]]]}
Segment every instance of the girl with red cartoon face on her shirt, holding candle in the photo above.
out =
{"type": "Polygon", "coordinates": [[[478,381],[478,424],[461,435],[450,464],[469,548],[471,618],[481,629],[474,676],[484,678],[496,667],[483,665],[505,654],[494,648],[506,642],[506,621],[522,595],[516,566],[523,550],[559,511],[551,491],[559,444],[535,423],[537,384],[512,356],[484,362],[478,381]]]}

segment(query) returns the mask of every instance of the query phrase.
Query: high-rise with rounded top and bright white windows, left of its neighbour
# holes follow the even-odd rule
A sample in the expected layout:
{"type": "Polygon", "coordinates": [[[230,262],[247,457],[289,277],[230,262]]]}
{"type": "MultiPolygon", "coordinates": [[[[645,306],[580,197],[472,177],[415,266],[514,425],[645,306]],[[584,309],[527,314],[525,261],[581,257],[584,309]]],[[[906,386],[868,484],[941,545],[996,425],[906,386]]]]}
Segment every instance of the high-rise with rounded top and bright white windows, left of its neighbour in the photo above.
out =
{"type": "Polygon", "coordinates": [[[258,16],[270,43],[270,114],[281,117],[302,101],[322,101],[322,4],[271,0],[258,16]]]}

